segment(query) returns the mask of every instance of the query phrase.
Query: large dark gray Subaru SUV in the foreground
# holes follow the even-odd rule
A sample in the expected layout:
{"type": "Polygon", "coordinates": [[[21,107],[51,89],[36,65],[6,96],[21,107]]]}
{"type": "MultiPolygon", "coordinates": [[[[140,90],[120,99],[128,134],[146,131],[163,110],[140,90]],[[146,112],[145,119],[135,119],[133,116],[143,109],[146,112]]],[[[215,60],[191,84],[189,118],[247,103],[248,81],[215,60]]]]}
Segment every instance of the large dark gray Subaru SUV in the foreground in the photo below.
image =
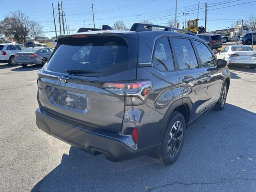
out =
{"type": "Polygon", "coordinates": [[[224,108],[226,61],[188,31],[138,23],[107,29],[58,36],[38,72],[36,124],[113,162],[147,154],[170,165],[186,128],[224,108]]]}

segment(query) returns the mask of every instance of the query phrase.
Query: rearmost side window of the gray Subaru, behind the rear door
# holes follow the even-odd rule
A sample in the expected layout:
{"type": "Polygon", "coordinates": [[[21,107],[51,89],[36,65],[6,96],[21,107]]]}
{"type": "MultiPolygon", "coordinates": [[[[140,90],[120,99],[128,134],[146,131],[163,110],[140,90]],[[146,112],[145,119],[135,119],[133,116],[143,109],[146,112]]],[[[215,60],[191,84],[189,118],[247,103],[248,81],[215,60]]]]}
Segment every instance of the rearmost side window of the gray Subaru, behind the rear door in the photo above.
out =
{"type": "Polygon", "coordinates": [[[153,65],[160,71],[174,70],[172,52],[167,37],[156,41],[153,65]]]}

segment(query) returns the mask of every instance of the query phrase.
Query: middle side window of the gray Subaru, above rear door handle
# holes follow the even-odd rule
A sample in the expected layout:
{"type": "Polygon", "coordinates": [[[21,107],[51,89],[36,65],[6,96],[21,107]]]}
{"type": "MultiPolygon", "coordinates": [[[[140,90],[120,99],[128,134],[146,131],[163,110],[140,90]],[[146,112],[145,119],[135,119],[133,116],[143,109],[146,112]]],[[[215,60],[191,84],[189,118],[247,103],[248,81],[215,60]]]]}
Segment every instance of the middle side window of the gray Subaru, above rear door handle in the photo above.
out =
{"type": "Polygon", "coordinates": [[[194,49],[188,39],[172,38],[174,52],[180,69],[198,67],[194,49]]]}

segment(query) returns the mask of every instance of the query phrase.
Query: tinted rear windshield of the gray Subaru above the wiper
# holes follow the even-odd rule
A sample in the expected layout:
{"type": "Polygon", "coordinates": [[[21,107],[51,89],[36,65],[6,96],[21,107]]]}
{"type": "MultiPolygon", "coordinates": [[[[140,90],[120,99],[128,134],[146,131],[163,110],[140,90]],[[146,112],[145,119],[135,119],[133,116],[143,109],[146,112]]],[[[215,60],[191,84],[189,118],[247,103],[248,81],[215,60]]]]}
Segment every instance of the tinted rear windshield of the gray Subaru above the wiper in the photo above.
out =
{"type": "Polygon", "coordinates": [[[80,75],[101,77],[128,70],[128,45],[120,37],[68,37],[60,38],[58,44],[47,64],[50,71],[84,70],[96,73],[80,75]]]}

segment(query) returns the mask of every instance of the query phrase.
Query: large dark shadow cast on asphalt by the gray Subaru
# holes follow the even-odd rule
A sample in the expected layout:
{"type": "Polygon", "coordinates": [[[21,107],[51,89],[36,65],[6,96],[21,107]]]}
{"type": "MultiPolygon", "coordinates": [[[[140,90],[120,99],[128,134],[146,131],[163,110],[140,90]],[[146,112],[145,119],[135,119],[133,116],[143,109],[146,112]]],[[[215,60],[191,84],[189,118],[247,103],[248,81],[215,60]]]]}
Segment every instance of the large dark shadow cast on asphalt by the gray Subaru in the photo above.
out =
{"type": "Polygon", "coordinates": [[[226,175],[220,169],[227,172],[227,178],[237,178],[239,174],[232,169],[241,168],[235,163],[229,167],[226,162],[237,156],[246,159],[246,153],[255,153],[255,132],[241,137],[241,128],[242,132],[249,132],[255,118],[254,112],[232,104],[226,104],[220,112],[208,112],[186,130],[184,147],[172,166],[160,166],[148,156],[113,163],[103,155],[92,156],[71,146],[69,154],[63,154],[61,163],[31,192],[159,191],[161,187],[165,191],[175,182],[221,180],[226,175]]]}

